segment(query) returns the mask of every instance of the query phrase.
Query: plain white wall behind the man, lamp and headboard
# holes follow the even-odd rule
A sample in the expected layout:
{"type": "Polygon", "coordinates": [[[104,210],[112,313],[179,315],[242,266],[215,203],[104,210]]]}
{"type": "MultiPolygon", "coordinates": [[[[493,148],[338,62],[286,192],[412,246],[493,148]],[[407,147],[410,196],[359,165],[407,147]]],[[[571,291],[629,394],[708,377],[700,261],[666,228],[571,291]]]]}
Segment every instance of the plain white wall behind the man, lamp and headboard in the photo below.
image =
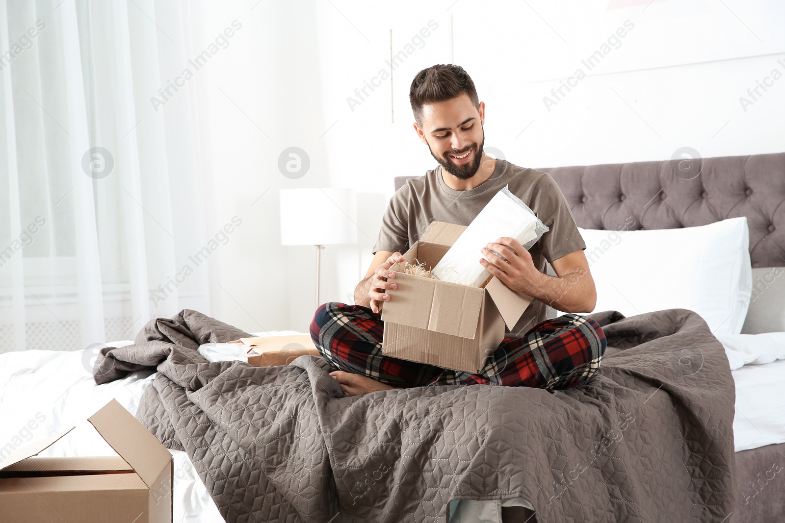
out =
{"type": "MultiPolygon", "coordinates": [[[[253,11],[248,9],[254,2],[229,2],[207,8],[207,20],[214,24],[206,27],[207,35],[234,18],[243,22],[220,62],[210,64],[215,67],[206,80],[214,121],[212,220],[219,226],[234,214],[243,217],[239,234],[220,253],[220,266],[211,274],[212,314],[246,330],[308,328],[314,251],[279,245],[280,187],[329,185],[358,191],[358,244],[327,246],[323,251],[322,301],[351,301],[348,296],[370,262],[392,194],[392,178],[421,175],[436,165],[414,135],[408,104],[414,74],[433,64],[454,61],[472,75],[486,104],[485,145],[498,148],[517,165],[662,160],[685,146],[704,158],[785,150],[785,78],[774,82],[747,111],[739,104],[739,96],[747,96],[747,89],[772,69],[785,73],[785,47],[772,44],[776,16],[758,16],[754,22],[747,18],[751,28],[734,26],[736,33],[728,35],[728,41],[717,41],[717,46],[732,48],[733,38],[746,38],[745,53],[754,54],[752,37],[743,35],[751,30],[767,40],[760,45],[761,53],[769,53],[774,45],[780,54],[696,64],[681,64],[675,56],[679,65],[611,73],[619,67],[635,69],[639,58],[641,64],[656,63],[644,56],[657,48],[652,44],[655,38],[681,40],[684,49],[707,47],[705,31],[696,31],[700,41],[691,40],[690,31],[654,31],[674,2],[648,7],[648,2],[635,0],[615,3],[628,6],[609,11],[603,24],[580,31],[574,16],[570,23],[565,16],[560,24],[564,10],[545,2],[529,2],[536,13],[518,2],[468,0],[426,6],[262,2],[253,11]],[[429,20],[438,27],[422,45],[418,41],[422,48],[414,45],[393,72],[392,114],[389,79],[373,93],[367,91],[369,96],[352,111],[347,97],[388,67],[390,29],[397,53],[428,27],[429,20]],[[574,56],[579,65],[624,20],[632,20],[635,28],[619,49],[608,54],[613,67],[604,71],[605,63],[598,65],[548,111],[543,96],[551,96],[550,89],[558,88],[560,81],[543,80],[544,69],[537,64],[548,64],[553,53],[560,63],[569,66],[574,56]],[[213,86],[224,89],[269,138],[213,86]],[[279,153],[290,146],[302,147],[311,159],[311,170],[300,180],[288,180],[276,168],[279,153]],[[267,187],[268,193],[249,208],[267,187]]],[[[726,9],[719,3],[692,3],[700,7],[696,20],[703,19],[701,9],[726,9]]],[[[771,5],[754,3],[760,4],[758,12],[771,5]]],[[[743,20],[751,16],[749,5],[728,5],[743,20]]],[[[564,69],[564,78],[574,69],[564,69]]]]}

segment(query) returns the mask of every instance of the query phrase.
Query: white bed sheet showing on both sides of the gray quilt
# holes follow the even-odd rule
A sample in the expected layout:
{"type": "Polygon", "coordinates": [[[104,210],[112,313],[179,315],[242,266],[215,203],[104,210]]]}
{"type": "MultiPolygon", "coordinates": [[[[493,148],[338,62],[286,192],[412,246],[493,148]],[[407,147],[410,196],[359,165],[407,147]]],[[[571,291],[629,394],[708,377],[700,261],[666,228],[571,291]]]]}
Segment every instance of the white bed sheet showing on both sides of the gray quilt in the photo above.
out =
{"type": "MultiPolygon", "coordinates": [[[[279,336],[299,333],[268,332],[279,336]]],[[[119,347],[130,343],[133,342],[108,344],[119,347]]],[[[200,347],[200,352],[212,361],[243,359],[237,345],[208,344],[200,347]]],[[[123,380],[96,385],[89,370],[93,361],[94,352],[86,350],[26,350],[0,354],[0,463],[11,450],[71,426],[78,430],[52,445],[43,455],[114,454],[86,419],[111,399],[119,401],[130,412],[136,412],[141,394],[155,378],[155,373],[133,372],[123,380]]],[[[736,419],[733,422],[736,452],[785,442],[785,360],[745,365],[732,370],[732,376],[736,381],[736,419]]],[[[170,452],[174,457],[173,521],[224,521],[185,452],[170,452]]],[[[488,512],[490,505],[460,503],[454,507],[454,518],[458,521],[499,521],[498,503],[491,504],[497,508],[488,512]],[[476,518],[477,514],[486,512],[487,518],[476,518]]]]}

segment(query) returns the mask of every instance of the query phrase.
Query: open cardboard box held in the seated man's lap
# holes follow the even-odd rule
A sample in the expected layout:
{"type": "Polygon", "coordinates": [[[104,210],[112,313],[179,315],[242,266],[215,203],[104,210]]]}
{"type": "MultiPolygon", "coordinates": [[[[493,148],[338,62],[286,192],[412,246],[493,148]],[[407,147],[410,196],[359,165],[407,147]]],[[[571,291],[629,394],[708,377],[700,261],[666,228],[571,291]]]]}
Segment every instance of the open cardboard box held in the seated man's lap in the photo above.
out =
{"type": "MultiPolygon", "coordinates": [[[[433,269],[465,229],[433,222],[403,257],[433,269]]],[[[512,329],[532,300],[496,277],[480,289],[405,274],[404,267],[392,265],[397,289],[382,304],[382,354],[393,358],[476,373],[504,340],[505,325],[512,329]]]]}

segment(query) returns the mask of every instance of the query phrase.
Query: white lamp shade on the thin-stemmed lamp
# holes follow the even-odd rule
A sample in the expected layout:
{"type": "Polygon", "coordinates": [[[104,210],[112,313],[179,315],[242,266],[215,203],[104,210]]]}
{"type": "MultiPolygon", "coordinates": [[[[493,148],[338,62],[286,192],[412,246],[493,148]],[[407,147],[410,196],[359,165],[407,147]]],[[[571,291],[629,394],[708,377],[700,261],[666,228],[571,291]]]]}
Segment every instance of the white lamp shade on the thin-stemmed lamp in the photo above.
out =
{"type": "Polygon", "coordinates": [[[281,245],[357,242],[357,205],[351,189],[281,189],[281,245]]]}

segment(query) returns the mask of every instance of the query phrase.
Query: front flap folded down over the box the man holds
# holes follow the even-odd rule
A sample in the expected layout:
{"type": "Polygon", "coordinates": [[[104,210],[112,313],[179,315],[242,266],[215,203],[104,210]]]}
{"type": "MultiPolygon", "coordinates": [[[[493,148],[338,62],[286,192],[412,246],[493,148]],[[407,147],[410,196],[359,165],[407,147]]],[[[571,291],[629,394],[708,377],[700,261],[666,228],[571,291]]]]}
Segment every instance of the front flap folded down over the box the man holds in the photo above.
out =
{"type": "Polygon", "coordinates": [[[485,291],[467,285],[442,282],[436,285],[428,330],[474,339],[480,322],[485,291]]]}

